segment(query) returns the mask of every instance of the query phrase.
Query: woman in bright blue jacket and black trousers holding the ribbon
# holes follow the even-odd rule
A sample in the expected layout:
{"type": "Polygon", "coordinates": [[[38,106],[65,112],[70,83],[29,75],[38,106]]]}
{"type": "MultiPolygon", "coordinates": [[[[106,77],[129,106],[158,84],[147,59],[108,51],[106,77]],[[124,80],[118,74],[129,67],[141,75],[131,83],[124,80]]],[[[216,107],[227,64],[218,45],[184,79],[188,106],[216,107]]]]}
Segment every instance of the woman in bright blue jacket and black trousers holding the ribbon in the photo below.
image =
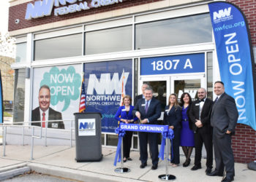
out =
{"type": "MultiPolygon", "coordinates": [[[[132,115],[132,109],[134,106],[131,106],[132,98],[129,95],[125,95],[123,98],[124,106],[120,106],[118,108],[118,111],[116,112],[115,119],[119,122],[124,122],[126,124],[134,123],[138,120],[138,118],[132,115]]],[[[127,162],[127,160],[132,160],[129,157],[129,152],[132,146],[132,132],[131,131],[125,131],[125,135],[123,138],[123,154],[124,154],[124,162],[127,162]]]]}

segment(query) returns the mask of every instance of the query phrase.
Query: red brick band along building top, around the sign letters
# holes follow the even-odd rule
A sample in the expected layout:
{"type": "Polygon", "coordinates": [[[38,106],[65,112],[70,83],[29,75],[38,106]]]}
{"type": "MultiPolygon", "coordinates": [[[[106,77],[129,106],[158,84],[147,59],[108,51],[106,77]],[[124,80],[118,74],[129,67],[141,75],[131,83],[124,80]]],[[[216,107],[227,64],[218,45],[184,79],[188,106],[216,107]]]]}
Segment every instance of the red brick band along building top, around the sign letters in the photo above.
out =
{"type": "MultiPolygon", "coordinates": [[[[38,0],[34,0],[38,1],[38,0]]],[[[91,2],[91,0],[88,0],[87,2],[91,2]]],[[[82,10],[80,12],[75,12],[75,13],[69,13],[67,15],[59,15],[59,16],[54,16],[52,11],[51,15],[48,17],[39,17],[36,19],[32,20],[25,20],[25,15],[26,15],[26,6],[28,3],[23,3],[23,4],[18,4],[17,6],[13,6],[9,8],[9,31],[16,31],[22,28],[29,28],[37,25],[44,25],[46,23],[54,23],[54,22],[59,22],[61,20],[68,20],[72,19],[75,17],[83,17],[83,16],[88,16],[88,15],[94,15],[97,13],[101,12],[109,12],[113,11],[116,9],[122,9],[122,8],[127,8],[127,7],[134,7],[138,6],[141,4],[148,4],[156,1],[162,1],[162,0],[124,0],[122,3],[119,4],[112,4],[109,6],[105,7],[98,7],[98,8],[91,8],[88,10],[82,10]],[[16,24],[15,20],[19,19],[20,23],[16,24]]],[[[31,1],[33,2],[33,1],[31,1]]],[[[33,3],[34,4],[34,3],[33,3]]],[[[60,6],[63,7],[63,6],[60,6]]]]}

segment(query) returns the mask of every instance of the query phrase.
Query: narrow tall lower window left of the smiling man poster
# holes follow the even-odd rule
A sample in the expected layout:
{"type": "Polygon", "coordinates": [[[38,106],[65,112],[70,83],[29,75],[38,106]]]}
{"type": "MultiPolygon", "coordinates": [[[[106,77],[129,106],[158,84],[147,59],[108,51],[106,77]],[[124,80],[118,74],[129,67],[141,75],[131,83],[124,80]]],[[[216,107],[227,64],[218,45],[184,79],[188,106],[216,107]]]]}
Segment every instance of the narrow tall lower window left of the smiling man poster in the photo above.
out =
{"type": "Polygon", "coordinates": [[[15,70],[13,122],[24,121],[25,69],[15,70]]]}

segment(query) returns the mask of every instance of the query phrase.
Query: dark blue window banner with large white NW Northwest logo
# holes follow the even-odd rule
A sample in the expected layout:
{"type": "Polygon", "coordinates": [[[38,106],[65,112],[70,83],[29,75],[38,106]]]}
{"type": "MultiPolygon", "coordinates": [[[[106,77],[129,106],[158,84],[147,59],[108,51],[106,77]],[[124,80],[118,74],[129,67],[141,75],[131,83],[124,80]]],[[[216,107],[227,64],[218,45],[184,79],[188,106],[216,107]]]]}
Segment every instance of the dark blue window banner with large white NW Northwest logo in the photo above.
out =
{"type": "Polygon", "coordinates": [[[85,63],[86,112],[102,114],[102,132],[115,132],[114,119],[124,94],[132,97],[132,60],[85,63]]]}

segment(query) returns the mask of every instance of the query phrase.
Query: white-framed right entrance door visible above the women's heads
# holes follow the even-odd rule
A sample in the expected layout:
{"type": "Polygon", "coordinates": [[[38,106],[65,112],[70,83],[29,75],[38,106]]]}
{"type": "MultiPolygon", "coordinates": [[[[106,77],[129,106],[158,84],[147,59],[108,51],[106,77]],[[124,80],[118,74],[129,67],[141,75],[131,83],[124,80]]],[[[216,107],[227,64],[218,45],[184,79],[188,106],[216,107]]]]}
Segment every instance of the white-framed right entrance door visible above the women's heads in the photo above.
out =
{"type": "Polygon", "coordinates": [[[196,100],[197,90],[201,87],[206,88],[204,74],[196,76],[172,76],[170,82],[171,93],[178,95],[178,102],[180,102],[181,95],[184,92],[188,92],[192,100],[196,100]]]}

